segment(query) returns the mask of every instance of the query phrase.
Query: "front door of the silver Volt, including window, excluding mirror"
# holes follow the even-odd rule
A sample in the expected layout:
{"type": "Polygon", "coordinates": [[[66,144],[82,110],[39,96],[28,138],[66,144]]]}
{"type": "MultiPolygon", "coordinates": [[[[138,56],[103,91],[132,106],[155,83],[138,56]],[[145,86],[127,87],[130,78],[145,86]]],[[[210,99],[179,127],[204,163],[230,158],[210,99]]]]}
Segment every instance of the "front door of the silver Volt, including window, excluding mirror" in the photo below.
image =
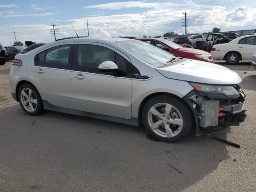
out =
{"type": "Polygon", "coordinates": [[[131,118],[132,64],[118,50],[100,43],[77,42],[71,71],[75,109],[131,118]],[[102,73],[99,64],[110,60],[125,74],[102,73]]]}

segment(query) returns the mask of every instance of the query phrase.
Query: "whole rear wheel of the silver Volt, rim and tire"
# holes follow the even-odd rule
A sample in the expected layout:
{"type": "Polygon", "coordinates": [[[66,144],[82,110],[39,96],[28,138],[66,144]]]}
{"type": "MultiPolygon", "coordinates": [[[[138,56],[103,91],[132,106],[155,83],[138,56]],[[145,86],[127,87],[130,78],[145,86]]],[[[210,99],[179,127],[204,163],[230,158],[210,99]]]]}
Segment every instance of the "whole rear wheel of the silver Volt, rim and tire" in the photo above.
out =
{"type": "Polygon", "coordinates": [[[22,109],[29,115],[36,116],[44,110],[42,98],[31,84],[22,84],[18,91],[18,99],[22,109]]]}

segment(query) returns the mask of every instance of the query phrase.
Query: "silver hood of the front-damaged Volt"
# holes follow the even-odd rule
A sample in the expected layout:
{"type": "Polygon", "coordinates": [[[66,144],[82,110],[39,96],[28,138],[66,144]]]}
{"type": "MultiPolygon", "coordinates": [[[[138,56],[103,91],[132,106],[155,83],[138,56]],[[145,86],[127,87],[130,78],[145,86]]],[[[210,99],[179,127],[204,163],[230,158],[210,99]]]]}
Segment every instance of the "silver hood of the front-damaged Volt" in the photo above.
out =
{"type": "Polygon", "coordinates": [[[166,78],[204,84],[228,85],[242,81],[236,72],[226,67],[198,60],[182,59],[177,64],[155,69],[166,78]]]}

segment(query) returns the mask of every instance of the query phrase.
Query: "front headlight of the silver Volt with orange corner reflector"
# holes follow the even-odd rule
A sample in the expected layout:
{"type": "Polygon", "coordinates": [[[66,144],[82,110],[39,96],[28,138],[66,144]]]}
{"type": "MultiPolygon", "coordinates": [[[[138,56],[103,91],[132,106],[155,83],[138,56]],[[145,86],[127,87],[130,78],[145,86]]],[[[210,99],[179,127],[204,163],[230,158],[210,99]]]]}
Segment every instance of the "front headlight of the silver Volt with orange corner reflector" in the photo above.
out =
{"type": "Polygon", "coordinates": [[[234,86],[207,85],[198,83],[190,83],[190,85],[199,91],[202,96],[207,96],[209,98],[234,99],[240,97],[240,94],[234,88],[234,86]]]}

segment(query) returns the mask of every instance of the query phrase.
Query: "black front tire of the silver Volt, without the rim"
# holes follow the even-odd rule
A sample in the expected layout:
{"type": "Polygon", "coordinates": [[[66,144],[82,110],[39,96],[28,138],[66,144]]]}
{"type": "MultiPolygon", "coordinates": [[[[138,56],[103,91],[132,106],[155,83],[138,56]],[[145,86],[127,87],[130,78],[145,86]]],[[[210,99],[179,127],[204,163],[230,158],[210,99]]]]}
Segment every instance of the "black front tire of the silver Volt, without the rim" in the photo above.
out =
{"type": "Polygon", "coordinates": [[[153,138],[163,142],[178,142],[184,139],[190,133],[190,130],[194,124],[194,121],[192,118],[192,112],[189,106],[187,106],[187,104],[184,103],[181,99],[178,99],[174,96],[156,96],[154,98],[151,98],[143,108],[142,122],[144,124],[144,127],[148,131],[148,134],[150,134],[153,138]],[[161,103],[172,105],[180,112],[182,116],[182,120],[183,120],[182,129],[177,135],[173,137],[160,136],[156,134],[156,132],[154,132],[152,128],[150,128],[150,124],[148,122],[149,110],[152,106],[155,106],[156,104],[161,104],[161,103]]]}

